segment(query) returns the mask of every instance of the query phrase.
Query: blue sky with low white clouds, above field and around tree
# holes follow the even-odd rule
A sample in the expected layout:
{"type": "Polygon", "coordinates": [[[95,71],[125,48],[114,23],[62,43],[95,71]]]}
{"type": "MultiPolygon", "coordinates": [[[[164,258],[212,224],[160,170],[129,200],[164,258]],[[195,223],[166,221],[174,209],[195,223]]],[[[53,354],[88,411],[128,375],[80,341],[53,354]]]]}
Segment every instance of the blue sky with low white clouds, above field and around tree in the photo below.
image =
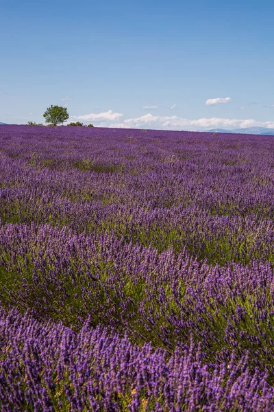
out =
{"type": "Polygon", "coordinates": [[[273,15],[265,0],[2,0],[0,122],[66,104],[95,126],[274,128],[273,15]]]}

